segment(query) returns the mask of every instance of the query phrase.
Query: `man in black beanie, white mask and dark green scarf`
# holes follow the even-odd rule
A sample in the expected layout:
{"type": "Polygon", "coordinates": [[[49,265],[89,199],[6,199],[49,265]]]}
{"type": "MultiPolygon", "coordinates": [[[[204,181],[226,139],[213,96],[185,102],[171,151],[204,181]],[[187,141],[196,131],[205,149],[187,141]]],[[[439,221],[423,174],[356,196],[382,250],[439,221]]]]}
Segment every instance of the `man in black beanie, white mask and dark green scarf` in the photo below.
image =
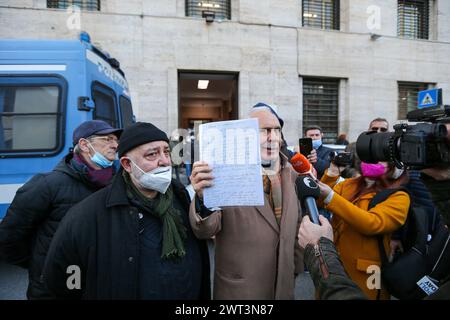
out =
{"type": "Polygon", "coordinates": [[[51,244],[44,280],[57,298],[206,299],[206,244],[189,225],[190,197],[172,180],[167,135],[150,123],[126,128],[121,170],[74,206],[51,244]]]}

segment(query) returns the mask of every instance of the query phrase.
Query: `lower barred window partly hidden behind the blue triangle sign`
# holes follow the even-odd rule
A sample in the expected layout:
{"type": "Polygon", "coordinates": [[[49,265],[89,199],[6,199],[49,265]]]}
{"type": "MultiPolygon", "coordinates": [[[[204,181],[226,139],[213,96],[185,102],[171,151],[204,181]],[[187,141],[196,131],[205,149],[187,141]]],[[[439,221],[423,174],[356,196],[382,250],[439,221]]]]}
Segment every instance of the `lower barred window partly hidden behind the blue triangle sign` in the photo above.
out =
{"type": "Polygon", "coordinates": [[[399,82],[398,83],[398,119],[406,119],[406,114],[417,110],[419,91],[434,88],[432,83],[399,82]]]}

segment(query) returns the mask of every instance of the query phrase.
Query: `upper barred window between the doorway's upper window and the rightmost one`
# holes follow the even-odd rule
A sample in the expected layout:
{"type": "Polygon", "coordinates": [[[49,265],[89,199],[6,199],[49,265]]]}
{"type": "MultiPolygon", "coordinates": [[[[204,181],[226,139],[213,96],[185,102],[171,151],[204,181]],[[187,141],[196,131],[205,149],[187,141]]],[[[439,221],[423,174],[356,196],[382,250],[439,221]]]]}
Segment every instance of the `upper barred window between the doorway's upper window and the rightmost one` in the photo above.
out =
{"type": "Polygon", "coordinates": [[[303,0],[304,27],[339,30],[339,0],[303,0]]]}

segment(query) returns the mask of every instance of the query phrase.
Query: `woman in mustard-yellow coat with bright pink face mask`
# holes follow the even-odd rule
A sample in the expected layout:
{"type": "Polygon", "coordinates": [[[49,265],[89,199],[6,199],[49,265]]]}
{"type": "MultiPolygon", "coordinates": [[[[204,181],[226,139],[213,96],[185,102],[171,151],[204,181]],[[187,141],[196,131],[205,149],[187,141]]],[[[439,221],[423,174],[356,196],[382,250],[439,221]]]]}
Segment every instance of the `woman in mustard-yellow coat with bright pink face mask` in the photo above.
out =
{"type": "Polygon", "coordinates": [[[373,275],[377,269],[373,266],[381,266],[377,235],[384,235],[389,257],[391,234],[405,223],[410,199],[407,193],[398,191],[368,210],[375,194],[398,187],[404,182],[404,174],[398,177],[394,165],[387,162],[363,162],[361,171],[362,176],[339,182],[339,168],[331,164],[319,182],[321,199],[333,213],[334,241],[349,276],[370,299],[389,299],[385,289],[378,290],[381,281],[373,275]]]}

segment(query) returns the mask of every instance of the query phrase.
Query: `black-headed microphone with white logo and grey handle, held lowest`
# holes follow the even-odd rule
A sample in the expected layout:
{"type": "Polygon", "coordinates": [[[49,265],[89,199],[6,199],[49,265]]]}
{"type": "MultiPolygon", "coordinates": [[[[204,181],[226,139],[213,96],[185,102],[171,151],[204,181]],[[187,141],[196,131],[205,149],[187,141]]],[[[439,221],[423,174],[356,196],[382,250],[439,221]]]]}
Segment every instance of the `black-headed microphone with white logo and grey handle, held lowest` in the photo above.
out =
{"type": "Polygon", "coordinates": [[[312,222],[320,225],[319,210],[315,200],[320,196],[320,188],[317,183],[309,176],[300,176],[295,181],[295,189],[297,198],[308,208],[312,222]]]}

